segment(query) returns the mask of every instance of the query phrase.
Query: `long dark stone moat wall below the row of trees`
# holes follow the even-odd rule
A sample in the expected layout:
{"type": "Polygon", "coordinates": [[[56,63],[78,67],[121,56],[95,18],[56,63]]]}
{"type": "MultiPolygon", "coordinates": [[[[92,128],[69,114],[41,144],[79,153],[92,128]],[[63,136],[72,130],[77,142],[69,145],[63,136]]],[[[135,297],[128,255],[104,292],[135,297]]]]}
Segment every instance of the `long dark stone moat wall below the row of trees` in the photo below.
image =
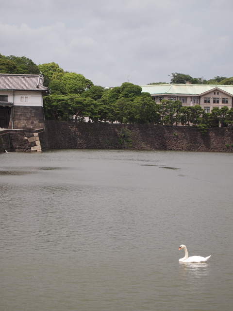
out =
{"type": "Polygon", "coordinates": [[[46,149],[137,149],[233,152],[233,129],[46,121],[46,149]]]}

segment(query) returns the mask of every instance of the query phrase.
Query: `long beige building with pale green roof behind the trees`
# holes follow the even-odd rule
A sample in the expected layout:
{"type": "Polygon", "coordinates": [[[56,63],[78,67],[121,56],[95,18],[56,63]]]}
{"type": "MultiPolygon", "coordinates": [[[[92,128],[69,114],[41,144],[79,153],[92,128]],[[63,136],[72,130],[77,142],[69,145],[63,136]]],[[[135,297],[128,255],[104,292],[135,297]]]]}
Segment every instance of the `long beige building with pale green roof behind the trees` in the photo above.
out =
{"type": "Polygon", "coordinates": [[[211,112],[213,107],[233,107],[233,86],[158,84],[141,87],[158,104],[162,100],[181,101],[183,106],[198,104],[205,112],[211,112]]]}

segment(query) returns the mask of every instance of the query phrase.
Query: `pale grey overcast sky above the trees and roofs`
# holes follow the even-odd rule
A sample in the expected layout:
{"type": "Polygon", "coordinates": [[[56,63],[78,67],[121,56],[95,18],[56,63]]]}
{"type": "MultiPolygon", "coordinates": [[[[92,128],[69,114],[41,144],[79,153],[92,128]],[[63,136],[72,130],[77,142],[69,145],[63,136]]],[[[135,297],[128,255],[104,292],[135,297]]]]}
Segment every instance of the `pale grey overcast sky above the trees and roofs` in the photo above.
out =
{"type": "Polygon", "coordinates": [[[233,0],[0,0],[0,53],[95,85],[233,76],[233,0]]]}

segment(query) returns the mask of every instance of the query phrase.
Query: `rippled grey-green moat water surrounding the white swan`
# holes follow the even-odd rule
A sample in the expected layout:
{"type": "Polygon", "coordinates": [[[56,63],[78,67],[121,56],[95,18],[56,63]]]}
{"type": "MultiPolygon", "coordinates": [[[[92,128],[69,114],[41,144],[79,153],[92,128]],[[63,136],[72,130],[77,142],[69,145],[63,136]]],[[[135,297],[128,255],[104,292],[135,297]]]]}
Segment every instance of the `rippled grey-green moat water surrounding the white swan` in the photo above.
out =
{"type": "Polygon", "coordinates": [[[232,188],[230,153],[0,155],[0,311],[232,311],[232,188]]]}

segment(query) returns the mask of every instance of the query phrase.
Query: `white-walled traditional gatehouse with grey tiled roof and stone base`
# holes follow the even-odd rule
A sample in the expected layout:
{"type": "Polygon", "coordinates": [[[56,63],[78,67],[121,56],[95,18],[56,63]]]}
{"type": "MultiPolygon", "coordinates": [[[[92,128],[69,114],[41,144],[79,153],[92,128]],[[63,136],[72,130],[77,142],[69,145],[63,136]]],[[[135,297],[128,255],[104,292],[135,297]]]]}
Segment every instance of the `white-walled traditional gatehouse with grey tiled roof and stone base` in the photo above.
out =
{"type": "Polygon", "coordinates": [[[0,73],[0,128],[44,128],[44,77],[38,74],[0,73]]]}

